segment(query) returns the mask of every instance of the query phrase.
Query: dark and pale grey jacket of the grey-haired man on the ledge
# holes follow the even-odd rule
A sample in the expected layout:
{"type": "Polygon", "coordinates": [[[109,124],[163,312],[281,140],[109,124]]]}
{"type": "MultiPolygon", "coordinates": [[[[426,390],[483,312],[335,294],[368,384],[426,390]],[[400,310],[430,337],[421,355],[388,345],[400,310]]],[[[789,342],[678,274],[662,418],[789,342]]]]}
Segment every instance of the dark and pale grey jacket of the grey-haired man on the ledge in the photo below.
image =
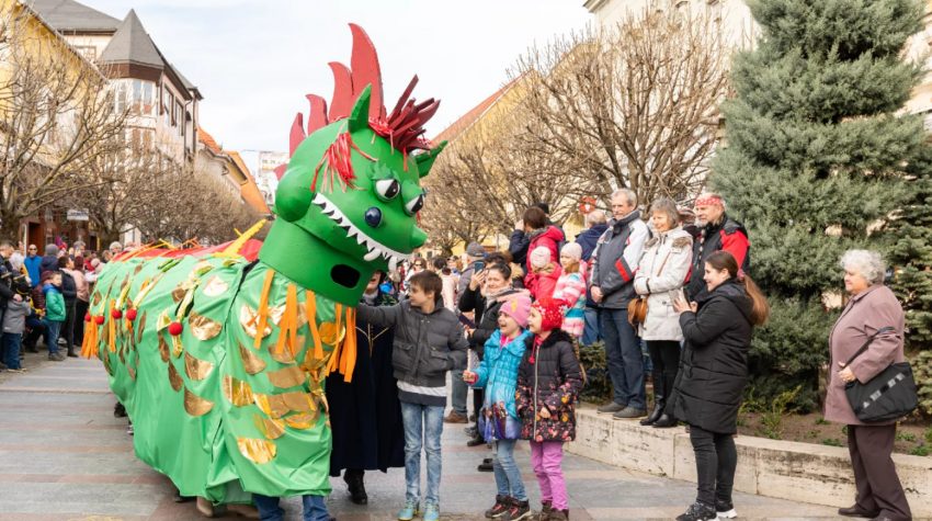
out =
{"type": "Polygon", "coordinates": [[[612,226],[599,238],[592,253],[589,286],[602,290],[602,302],[595,306],[627,309],[628,303],[636,296],[632,282],[644,243],[649,238],[650,231],[640,220],[640,211],[612,220],[612,226]]]}

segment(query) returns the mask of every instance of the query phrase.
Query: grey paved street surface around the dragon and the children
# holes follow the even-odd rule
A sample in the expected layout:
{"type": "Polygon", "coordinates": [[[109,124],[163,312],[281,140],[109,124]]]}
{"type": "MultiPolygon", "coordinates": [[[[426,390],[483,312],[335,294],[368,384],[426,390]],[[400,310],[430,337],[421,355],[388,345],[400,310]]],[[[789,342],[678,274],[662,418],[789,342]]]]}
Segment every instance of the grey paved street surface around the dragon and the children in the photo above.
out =
{"type": "MultiPolygon", "coordinates": [[[[193,503],[172,502],[167,478],[138,462],[126,420],[113,417],[113,395],[96,361],[45,361],[29,354],[23,374],[0,373],[0,521],[201,520],[193,503]]],[[[463,426],[450,426],[443,441],[441,507],[445,520],[480,520],[495,496],[491,474],[476,472],[488,454],[467,449],[463,426]]],[[[528,451],[518,461],[532,505],[539,506],[528,451]]],[[[695,485],[622,471],[568,455],[564,469],[570,519],[673,519],[695,497],[695,485]]],[[[349,502],[345,485],[333,480],[328,503],[340,521],[394,519],[404,501],[405,474],[367,473],[368,507],[349,502]]],[[[836,519],[834,509],[737,494],[748,519],[836,519]]],[[[288,520],[300,519],[297,499],[285,502],[288,520]]],[[[243,519],[234,516],[223,519],[243,519]]]]}

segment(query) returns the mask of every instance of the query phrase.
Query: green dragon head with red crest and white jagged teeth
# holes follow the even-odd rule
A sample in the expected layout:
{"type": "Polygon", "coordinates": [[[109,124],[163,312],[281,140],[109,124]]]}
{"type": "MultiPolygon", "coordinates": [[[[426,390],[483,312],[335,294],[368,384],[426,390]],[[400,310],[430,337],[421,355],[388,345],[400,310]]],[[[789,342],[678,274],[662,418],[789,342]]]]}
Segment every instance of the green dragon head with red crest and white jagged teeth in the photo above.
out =
{"type": "Polygon", "coordinates": [[[423,138],[439,102],[409,99],[417,77],[386,113],[375,49],[362,29],[350,27],[352,71],[330,64],[329,113],[310,94],[307,132],[303,115],[295,117],[291,160],[279,170],[279,219],[260,252],[273,269],[345,304],[359,299],[375,270],[394,269],[427,240],[417,226],[420,179],[445,146],[423,138]]]}

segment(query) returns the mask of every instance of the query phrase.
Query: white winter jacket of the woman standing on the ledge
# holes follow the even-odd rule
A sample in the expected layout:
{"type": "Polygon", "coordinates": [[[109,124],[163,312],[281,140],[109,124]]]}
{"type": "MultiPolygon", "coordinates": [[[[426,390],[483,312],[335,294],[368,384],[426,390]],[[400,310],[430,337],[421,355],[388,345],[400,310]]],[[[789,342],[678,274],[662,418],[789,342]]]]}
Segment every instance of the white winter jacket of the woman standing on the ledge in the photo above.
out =
{"type": "Polygon", "coordinates": [[[693,237],[683,228],[659,234],[645,245],[644,256],[634,278],[638,295],[647,297],[647,318],[638,336],[644,340],[683,339],[679,314],[673,301],[690,274],[693,259],[693,237]]]}

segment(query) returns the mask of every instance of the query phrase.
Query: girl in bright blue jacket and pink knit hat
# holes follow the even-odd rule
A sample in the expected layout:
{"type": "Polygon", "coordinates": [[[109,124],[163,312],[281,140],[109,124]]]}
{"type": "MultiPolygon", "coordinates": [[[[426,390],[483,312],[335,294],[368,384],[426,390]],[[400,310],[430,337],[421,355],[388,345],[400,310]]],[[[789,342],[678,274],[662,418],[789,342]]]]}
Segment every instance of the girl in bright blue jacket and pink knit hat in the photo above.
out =
{"type": "Polygon", "coordinates": [[[526,330],[530,313],[531,298],[526,294],[519,293],[505,299],[499,310],[499,329],[486,342],[482,362],[475,373],[463,373],[466,383],[486,390],[479,412],[479,433],[496,444],[492,467],[498,494],[486,517],[505,521],[532,516],[521,472],[514,462],[514,444],[521,435],[514,393],[525,340],[531,336],[526,330]]]}

